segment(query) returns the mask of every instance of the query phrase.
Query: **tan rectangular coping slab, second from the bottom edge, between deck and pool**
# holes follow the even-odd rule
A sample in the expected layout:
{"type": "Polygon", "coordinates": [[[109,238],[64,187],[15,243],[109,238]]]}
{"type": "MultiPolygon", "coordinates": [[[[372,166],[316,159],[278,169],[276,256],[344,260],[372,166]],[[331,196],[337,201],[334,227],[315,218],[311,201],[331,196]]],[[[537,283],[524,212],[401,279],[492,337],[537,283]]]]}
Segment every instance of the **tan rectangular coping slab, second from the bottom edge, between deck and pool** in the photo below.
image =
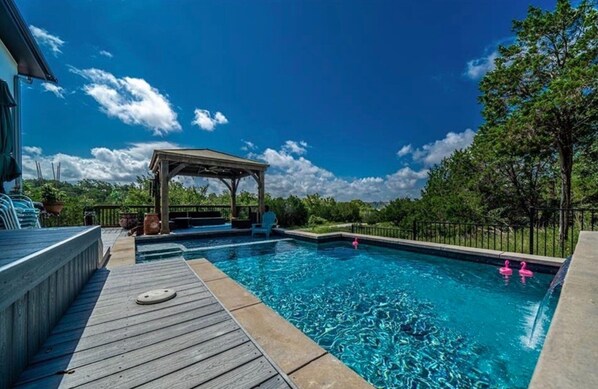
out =
{"type": "Polygon", "coordinates": [[[233,315],[287,374],[326,354],[326,350],[264,304],[238,309],[233,315]]]}

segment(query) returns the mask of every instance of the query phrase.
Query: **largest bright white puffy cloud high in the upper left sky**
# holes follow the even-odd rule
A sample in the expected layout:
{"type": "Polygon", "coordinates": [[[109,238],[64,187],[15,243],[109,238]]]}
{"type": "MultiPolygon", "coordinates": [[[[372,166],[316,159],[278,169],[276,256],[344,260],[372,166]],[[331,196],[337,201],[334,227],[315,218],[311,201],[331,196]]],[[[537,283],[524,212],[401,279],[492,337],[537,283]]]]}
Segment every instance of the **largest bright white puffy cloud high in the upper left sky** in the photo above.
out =
{"type": "Polygon", "coordinates": [[[141,125],[164,135],[181,130],[177,113],[168,98],[142,78],[117,78],[101,69],[77,69],[70,71],[85,78],[88,83],[83,91],[93,97],[106,115],[126,124],[141,125]]]}

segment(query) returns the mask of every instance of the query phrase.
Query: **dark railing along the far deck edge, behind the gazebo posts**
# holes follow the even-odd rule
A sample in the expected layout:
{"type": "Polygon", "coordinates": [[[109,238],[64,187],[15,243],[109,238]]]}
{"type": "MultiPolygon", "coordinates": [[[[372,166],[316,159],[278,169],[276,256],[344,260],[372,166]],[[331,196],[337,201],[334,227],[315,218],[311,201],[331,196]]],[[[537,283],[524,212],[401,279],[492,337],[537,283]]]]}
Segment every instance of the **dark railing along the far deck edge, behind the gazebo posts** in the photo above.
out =
{"type": "MultiPolygon", "coordinates": [[[[230,219],[230,205],[171,205],[170,212],[201,212],[219,211],[223,218],[230,219]]],[[[145,213],[154,212],[153,205],[95,205],[95,224],[102,227],[118,227],[121,212],[136,213],[139,220],[143,220],[145,213]]],[[[237,205],[237,217],[249,219],[250,212],[256,212],[257,205],[237,205]]]]}

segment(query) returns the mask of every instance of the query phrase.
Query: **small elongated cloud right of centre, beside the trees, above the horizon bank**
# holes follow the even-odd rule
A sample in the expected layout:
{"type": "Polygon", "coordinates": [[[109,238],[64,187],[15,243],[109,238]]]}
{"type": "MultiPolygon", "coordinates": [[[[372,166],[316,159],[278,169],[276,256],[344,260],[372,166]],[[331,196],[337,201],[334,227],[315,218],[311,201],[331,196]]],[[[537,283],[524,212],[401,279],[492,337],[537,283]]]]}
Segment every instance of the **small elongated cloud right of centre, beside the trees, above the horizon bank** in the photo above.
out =
{"type": "Polygon", "coordinates": [[[411,154],[413,160],[421,162],[424,166],[433,166],[451,155],[455,150],[467,148],[473,142],[475,132],[466,129],[463,132],[449,132],[443,139],[423,145],[414,149],[411,145],[403,146],[398,152],[399,157],[411,154]]]}

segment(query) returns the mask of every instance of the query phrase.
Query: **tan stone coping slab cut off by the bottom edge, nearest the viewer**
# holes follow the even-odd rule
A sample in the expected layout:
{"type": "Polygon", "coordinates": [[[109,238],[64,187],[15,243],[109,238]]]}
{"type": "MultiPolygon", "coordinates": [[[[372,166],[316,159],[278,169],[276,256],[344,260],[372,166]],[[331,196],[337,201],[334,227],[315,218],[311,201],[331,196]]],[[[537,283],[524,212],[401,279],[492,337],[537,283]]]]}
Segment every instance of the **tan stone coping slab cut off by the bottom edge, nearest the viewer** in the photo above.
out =
{"type": "Polygon", "coordinates": [[[291,380],[305,389],[360,389],[372,386],[331,354],[309,363],[290,375],[291,380]]]}

